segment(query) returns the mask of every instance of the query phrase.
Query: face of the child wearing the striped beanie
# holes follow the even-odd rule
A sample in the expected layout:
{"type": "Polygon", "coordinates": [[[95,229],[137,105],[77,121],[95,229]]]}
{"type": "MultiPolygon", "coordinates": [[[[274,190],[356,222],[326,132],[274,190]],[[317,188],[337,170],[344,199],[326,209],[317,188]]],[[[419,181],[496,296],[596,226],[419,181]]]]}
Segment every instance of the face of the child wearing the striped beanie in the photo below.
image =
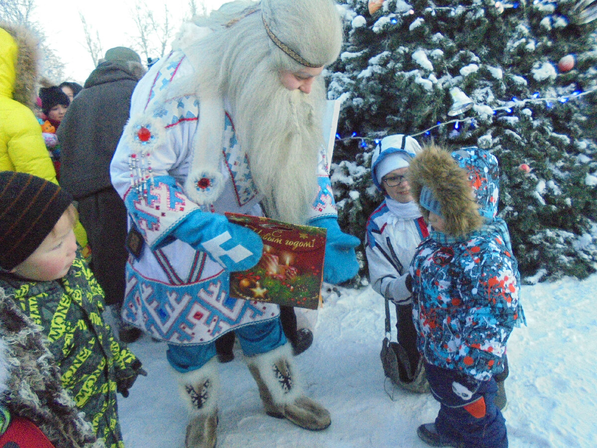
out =
{"type": "Polygon", "coordinates": [[[27,280],[51,281],[64,277],[76,256],[72,218],[65,211],[50,234],[13,274],[27,280]]]}

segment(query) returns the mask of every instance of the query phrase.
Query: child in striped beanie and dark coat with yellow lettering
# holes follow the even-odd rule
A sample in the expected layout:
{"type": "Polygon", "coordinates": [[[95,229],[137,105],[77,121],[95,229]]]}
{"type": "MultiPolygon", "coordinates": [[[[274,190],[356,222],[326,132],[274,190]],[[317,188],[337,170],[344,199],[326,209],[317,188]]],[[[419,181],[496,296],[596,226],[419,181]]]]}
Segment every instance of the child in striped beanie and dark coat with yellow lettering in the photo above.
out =
{"type": "Polygon", "coordinates": [[[0,172],[0,288],[42,327],[61,381],[98,438],[124,448],[116,392],[141,362],[102,317],[104,294],[76,246],[72,197],[54,183],[0,172]]]}

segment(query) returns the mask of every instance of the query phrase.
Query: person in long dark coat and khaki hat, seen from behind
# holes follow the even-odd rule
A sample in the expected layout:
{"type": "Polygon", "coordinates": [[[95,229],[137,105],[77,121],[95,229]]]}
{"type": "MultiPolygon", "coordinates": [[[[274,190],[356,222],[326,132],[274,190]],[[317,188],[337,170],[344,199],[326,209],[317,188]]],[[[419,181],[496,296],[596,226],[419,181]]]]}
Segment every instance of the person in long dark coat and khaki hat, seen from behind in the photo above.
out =
{"type": "Polygon", "coordinates": [[[110,161],[127,123],[131,95],[146,70],[130,48],[106,51],[85,81],[58,129],[61,145],[60,185],[78,201],[93,257],[91,271],[106,293],[123,342],[141,330],[121,318],[127,262],[127,210],[110,182],[110,161]]]}

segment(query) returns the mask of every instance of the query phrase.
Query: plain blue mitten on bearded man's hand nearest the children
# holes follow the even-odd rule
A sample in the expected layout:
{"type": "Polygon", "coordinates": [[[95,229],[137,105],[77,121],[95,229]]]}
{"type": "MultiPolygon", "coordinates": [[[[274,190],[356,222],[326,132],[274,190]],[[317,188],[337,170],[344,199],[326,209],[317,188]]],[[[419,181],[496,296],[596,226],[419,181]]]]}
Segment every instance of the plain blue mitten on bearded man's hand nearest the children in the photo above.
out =
{"type": "Polygon", "coordinates": [[[340,230],[336,217],[312,219],[309,225],[327,229],[325,243],[324,281],[338,284],[350,280],[359,272],[355,247],[361,244],[359,238],[340,230]]]}

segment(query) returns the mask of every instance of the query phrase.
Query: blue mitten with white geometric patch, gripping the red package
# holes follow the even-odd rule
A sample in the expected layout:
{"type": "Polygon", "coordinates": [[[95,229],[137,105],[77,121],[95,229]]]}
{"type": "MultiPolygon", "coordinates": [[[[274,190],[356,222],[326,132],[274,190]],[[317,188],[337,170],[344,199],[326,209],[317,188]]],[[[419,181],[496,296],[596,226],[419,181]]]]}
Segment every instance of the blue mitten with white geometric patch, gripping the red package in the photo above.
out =
{"type": "Polygon", "coordinates": [[[261,258],[263,243],[251,229],[233,224],[223,214],[195,210],[172,232],[195,250],[207,252],[229,271],[246,271],[261,258]]]}

